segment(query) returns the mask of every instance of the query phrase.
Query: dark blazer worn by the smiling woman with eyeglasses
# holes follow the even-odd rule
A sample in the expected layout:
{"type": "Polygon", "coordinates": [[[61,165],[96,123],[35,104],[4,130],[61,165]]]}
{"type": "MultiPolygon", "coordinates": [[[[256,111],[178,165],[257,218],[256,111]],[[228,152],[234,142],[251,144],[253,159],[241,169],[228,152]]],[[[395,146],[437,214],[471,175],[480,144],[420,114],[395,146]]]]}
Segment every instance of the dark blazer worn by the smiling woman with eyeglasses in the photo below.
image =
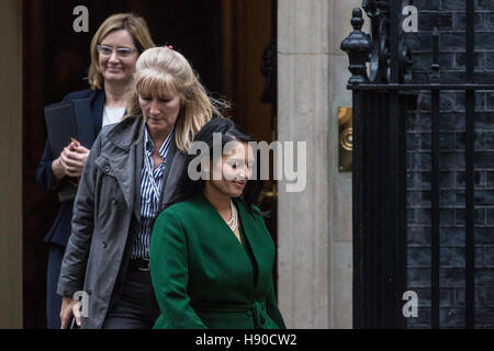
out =
{"type": "MultiPolygon", "coordinates": [[[[104,91],[93,89],[80,90],[67,94],[63,101],[70,101],[76,99],[91,100],[91,118],[94,124],[94,136],[98,136],[101,131],[101,124],[103,120],[104,91]]],[[[88,148],[90,147],[91,145],[88,146],[88,148]]],[[[55,186],[53,186],[52,184],[52,162],[56,157],[52,155],[48,140],[46,140],[45,150],[36,170],[36,182],[47,192],[57,192],[60,186],[64,186],[66,181],[66,179],[64,179],[55,186]]],[[[46,242],[57,244],[64,247],[67,246],[67,241],[70,237],[71,231],[70,222],[72,218],[72,200],[60,203],[60,208],[55,218],[55,222],[45,236],[46,242]]]]}

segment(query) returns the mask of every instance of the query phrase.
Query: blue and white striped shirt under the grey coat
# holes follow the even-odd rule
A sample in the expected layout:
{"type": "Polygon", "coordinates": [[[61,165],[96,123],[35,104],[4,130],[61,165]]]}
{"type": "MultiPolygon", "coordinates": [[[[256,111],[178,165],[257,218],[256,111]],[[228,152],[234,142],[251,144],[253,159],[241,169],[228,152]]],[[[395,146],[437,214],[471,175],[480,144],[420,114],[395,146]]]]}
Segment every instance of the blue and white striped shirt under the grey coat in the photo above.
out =
{"type": "MultiPolygon", "coordinates": [[[[166,159],[170,143],[173,139],[173,129],[168,134],[165,143],[162,143],[159,148],[159,155],[161,159],[166,159]]],[[[155,150],[155,145],[147,132],[147,125],[144,128],[144,159],[143,159],[143,170],[141,171],[141,226],[137,234],[137,238],[132,248],[131,258],[149,258],[149,239],[151,235],[151,223],[157,212],[159,211],[159,197],[162,186],[162,174],[165,172],[165,161],[159,163],[159,166],[154,169],[153,151],[155,150]],[[147,162],[146,159],[149,161],[147,162]],[[155,188],[153,186],[150,174],[147,171],[146,163],[149,166],[153,172],[153,179],[158,194],[155,194],[155,188]]]]}

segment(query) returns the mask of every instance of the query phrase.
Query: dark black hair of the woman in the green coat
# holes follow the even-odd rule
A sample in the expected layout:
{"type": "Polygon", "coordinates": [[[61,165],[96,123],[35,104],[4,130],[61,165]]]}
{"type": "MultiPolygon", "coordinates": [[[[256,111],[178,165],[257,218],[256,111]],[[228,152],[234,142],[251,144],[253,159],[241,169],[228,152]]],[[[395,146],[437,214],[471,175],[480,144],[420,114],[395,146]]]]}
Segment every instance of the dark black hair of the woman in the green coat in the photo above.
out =
{"type": "MultiPolygon", "coordinates": [[[[240,143],[249,143],[254,141],[254,138],[244,133],[232,120],[224,118],[224,117],[215,117],[204,124],[204,126],[199,131],[199,133],[194,137],[194,141],[203,141],[207,145],[209,155],[201,155],[201,149],[198,150],[195,155],[188,155],[186,159],[186,165],[182,170],[182,174],[180,176],[179,184],[178,184],[178,193],[179,199],[175,202],[181,202],[184,201],[199,192],[202,192],[204,189],[204,180],[202,178],[198,180],[192,180],[189,177],[188,170],[190,162],[195,159],[197,157],[204,157],[207,156],[210,160],[213,159],[213,148],[214,148],[214,139],[213,139],[213,133],[220,133],[221,134],[221,149],[223,150],[223,147],[228,141],[240,141],[240,143]]],[[[192,144],[193,145],[193,144],[192,144]]],[[[217,146],[216,146],[217,147],[217,146]]],[[[256,157],[256,161],[259,163],[259,158],[256,157]]],[[[259,165],[258,165],[259,166],[259,165]]],[[[200,167],[198,167],[198,171],[200,170],[200,167]]],[[[256,167],[257,172],[259,173],[259,167],[256,167]]],[[[257,213],[262,214],[259,211],[257,211],[254,205],[257,204],[257,201],[259,199],[259,194],[261,193],[263,188],[263,182],[260,180],[259,174],[252,174],[251,179],[247,181],[247,184],[244,188],[244,192],[242,193],[242,196],[239,200],[246,205],[248,211],[250,213],[257,213]],[[256,177],[255,177],[256,176],[256,177]]]]}

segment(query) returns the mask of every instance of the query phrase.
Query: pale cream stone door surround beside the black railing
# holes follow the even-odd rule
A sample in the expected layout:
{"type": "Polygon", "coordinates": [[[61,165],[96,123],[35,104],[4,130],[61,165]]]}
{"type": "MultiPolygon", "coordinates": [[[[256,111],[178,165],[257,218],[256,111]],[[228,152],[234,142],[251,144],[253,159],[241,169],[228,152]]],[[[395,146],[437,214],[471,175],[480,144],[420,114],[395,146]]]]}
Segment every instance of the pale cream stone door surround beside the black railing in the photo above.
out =
{"type": "Polygon", "coordinates": [[[278,136],[307,143],[307,185],[279,182],[279,305],[289,328],[352,327],[351,173],[338,171],[338,106],[361,0],[278,1],[278,136]]]}

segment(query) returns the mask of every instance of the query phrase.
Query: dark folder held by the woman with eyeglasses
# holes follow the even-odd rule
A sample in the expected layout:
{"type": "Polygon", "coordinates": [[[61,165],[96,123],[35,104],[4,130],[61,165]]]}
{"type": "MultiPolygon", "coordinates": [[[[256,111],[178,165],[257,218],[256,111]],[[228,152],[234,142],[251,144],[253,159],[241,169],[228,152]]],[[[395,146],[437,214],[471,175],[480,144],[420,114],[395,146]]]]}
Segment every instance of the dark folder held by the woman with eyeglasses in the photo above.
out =
{"type": "Polygon", "coordinates": [[[91,117],[90,99],[77,99],[45,106],[46,131],[53,158],[76,138],[91,148],[94,141],[94,124],[91,117]]]}

